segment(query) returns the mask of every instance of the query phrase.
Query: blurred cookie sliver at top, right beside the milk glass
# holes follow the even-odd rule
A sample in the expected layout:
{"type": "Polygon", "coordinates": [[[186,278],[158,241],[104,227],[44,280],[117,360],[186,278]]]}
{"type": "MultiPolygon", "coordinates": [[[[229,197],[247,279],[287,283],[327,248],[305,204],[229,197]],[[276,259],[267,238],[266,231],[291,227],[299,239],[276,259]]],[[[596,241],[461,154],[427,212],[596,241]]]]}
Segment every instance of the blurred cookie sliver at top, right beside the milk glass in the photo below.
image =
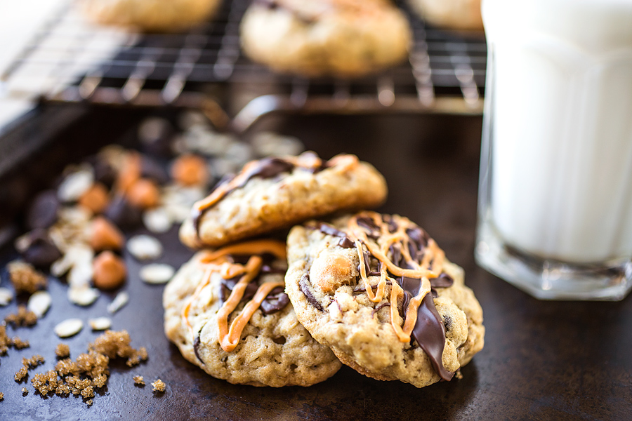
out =
{"type": "Polygon", "coordinates": [[[480,0],[408,0],[421,18],[437,27],[482,31],[480,0]]]}

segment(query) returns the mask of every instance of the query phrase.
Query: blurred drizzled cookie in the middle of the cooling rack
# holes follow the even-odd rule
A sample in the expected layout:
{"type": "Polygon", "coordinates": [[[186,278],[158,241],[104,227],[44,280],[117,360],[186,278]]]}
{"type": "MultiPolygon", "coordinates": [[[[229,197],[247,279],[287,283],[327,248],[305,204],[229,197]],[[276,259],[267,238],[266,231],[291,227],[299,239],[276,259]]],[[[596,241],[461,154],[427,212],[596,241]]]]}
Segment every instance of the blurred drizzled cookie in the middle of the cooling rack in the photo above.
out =
{"type": "Polygon", "coordinates": [[[351,77],[402,62],[404,14],[385,0],[257,0],[241,25],[242,49],[277,72],[351,77]]]}

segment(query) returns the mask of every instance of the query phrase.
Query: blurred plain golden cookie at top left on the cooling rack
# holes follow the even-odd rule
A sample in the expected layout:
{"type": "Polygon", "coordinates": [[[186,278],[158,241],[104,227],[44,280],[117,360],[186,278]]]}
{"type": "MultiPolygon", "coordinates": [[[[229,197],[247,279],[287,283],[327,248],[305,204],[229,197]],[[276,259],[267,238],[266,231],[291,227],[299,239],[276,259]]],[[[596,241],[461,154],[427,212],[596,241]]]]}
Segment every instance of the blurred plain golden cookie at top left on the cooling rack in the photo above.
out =
{"type": "Polygon", "coordinates": [[[220,0],[81,0],[88,19],[102,25],[171,32],[211,18],[220,0]]]}

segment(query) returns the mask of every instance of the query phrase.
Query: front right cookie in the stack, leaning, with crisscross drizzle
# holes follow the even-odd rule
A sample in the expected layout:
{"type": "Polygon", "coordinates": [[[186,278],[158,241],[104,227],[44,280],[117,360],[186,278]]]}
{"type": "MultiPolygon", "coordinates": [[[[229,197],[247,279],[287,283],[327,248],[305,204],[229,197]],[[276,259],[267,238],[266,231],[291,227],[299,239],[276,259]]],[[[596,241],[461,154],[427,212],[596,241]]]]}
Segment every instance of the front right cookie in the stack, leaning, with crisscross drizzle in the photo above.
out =
{"type": "Polygon", "coordinates": [[[424,387],[452,379],[483,347],[463,269],[407,218],[363,211],[296,226],[288,263],[298,320],[364,375],[424,387]]]}

